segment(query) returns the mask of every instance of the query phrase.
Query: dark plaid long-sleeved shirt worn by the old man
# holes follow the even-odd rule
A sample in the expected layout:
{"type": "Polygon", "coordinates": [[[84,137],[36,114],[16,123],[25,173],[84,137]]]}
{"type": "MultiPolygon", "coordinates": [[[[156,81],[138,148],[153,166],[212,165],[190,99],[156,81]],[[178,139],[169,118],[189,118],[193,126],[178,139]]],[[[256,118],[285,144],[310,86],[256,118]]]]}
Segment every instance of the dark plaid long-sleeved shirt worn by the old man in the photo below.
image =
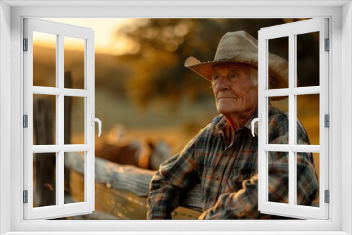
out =
{"type": "MultiPolygon", "coordinates": [[[[258,136],[251,135],[257,112],[232,133],[223,115],[194,136],[183,151],[161,164],[151,179],[148,219],[171,219],[184,191],[201,184],[203,214],[199,219],[272,219],[258,211],[258,136]],[[232,136],[232,138],[230,138],[232,136]]],[[[301,122],[298,144],[309,144],[301,122]]],[[[270,105],[269,142],[288,144],[288,114],[270,105]]],[[[258,133],[258,132],[256,132],[258,133]]],[[[288,203],[288,153],[269,153],[269,201],[288,203]]],[[[311,153],[297,154],[297,202],[318,197],[318,179],[311,153]]]]}

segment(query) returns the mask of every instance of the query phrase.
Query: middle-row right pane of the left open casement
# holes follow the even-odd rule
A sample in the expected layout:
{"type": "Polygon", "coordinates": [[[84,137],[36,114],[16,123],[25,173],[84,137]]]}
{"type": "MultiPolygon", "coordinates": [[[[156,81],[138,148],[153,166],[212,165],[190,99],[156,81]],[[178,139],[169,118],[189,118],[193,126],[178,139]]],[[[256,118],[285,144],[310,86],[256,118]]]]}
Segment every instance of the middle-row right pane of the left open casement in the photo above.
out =
{"type": "Polygon", "coordinates": [[[65,96],[65,144],[84,144],[84,97],[65,96]]]}

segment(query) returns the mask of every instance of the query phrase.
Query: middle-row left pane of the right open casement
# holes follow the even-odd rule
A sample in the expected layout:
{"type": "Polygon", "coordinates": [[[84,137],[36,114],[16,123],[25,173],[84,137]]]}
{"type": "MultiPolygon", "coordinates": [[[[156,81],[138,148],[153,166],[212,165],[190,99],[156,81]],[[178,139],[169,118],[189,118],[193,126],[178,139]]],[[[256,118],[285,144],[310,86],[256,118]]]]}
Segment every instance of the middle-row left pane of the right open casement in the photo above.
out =
{"type": "MultiPolygon", "coordinates": [[[[271,99],[272,97],[270,97],[271,99]]],[[[289,144],[289,99],[269,101],[268,137],[269,144],[289,144]],[[271,106],[270,106],[271,105],[271,106]],[[278,129],[280,123],[286,122],[278,129]]]]}

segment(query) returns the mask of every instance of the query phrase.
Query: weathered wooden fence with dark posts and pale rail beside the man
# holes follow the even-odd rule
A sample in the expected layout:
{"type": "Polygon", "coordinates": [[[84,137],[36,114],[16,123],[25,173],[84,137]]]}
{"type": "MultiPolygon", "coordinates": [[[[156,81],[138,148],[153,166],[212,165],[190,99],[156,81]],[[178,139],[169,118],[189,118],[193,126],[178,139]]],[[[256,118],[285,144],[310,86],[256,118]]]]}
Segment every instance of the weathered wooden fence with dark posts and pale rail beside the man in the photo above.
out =
{"type": "MultiPolygon", "coordinates": [[[[65,87],[71,87],[72,77],[70,72],[65,72],[65,87]]],[[[72,99],[70,96],[65,97],[65,144],[70,144],[71,136],[71,109],[72,99]]],[[[54,144],[54,116],[52,113],[52,101],[49,99],[38,99],[33,102],[34,109],[34,139],[36,144],[54,144]]],[[[46,153],[52,155],[52,153],[46,153]]],[[[36,198],[35,203],[37,206],[54,205],[55,203],[55,169],[56,169],[56,158],[36,158],[34,156],[34,175],[36,198]],[[51,186],[51,187],[48,187],[51,186]],[[53,201],[54,200],[54,201],[53,201]]],[[[77,184],[84,185],[84,156],[79,153],[65,153],[65,203],[75,202],[70,189],[72,186],[77,184]],[[75,176],[75,180],[70,179],[71,175],[75,176]],[[83,182],[82,182],[83,179],[83,182]]],[[[153,170],[144,170],[139,167],[132,165],[119,165],[112,163],[103,158],[96,157],[95,160],[95,180],[96,180],[96,191],[103,192],[103,200],[101,200],[101,208],[107,208],[109,205],[105,205],[106,198],[118,201],[120,198],[134,198],[133,201],[139,201],[137,204],[146,210],[146,196],[149,193],[149,183],[151,177],[155,174],[153,170]],[[108,186],[109,190],[103,189],[108,186]],[[127,193],[126,193],[127,192],[127,193]],[[127,195],[127,196],[126,196],[127,195]],[[142,200],[141,200],[142,199],[142,200]],[[105,203],[105,204],[104,204],[105,203]]],[[[75,189],[73,186],[73,189],[75,189]]],[[[82,193],[80,193],[82,194],[82,193]]],[[[201,187],[200,185],[195,186],[189,190],[183,197],[180,205],[184,208],[178,208],[173,215],[176,218],[196,219],[197,215],[201,211],[201,187]],[[190,209],[190,210],[189,210],[190,209]],[[183,213],[183,215],[182,215],[183,213]],[[188,213],[188,214],[187,214],[188,213]],[[182,216],[180,216],[182,215],[182,216]]],[[[82,200],[82,195],[80,200],[82,200]]],[[[136,209],[136,208],[134,208],[136,209]]],[[[141,210],[141,211],[143,211],[141,210]]],[[[94,215],[71,217],[73,220],[119,220],[126,218],[120,216],[119,212],[99,212],[96,210],[94,215]]],[[[143,211],[143,215],[146,213],[143,211]]],[[[174,217],[172,217],[174,218],[174,217]]]]}

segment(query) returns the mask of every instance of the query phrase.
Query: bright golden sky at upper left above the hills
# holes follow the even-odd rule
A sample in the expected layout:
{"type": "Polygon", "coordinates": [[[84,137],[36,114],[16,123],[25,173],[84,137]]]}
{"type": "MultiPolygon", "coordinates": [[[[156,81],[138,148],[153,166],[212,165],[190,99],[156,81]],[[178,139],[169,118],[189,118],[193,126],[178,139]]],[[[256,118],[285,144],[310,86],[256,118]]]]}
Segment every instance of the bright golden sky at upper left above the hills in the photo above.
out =
{"type": "MultiPolygon", "coordinates": [[[[117,38],[116,32],[119,27],[132,23],[132,19],[75,19],[75,18],[45,18],[44,20],[52,20],[69,25],[77,25],[81,27],[89,27],[94,30],[95,34],[95,51],[96,53],[108,53],[113,55],[121,55],[130,51],[132,45],[124,38],[117,38]]],[[[55,37],[54,37],[55,38],[55,37]]],[[[55,47],[55,39],[51,34],[36,33],[34,34],[34,45],[55,47]]],[[[80,39],[70,39],[65,37],[65,49],[84,49],[84,46],[77,45],[80,39]]]]}

